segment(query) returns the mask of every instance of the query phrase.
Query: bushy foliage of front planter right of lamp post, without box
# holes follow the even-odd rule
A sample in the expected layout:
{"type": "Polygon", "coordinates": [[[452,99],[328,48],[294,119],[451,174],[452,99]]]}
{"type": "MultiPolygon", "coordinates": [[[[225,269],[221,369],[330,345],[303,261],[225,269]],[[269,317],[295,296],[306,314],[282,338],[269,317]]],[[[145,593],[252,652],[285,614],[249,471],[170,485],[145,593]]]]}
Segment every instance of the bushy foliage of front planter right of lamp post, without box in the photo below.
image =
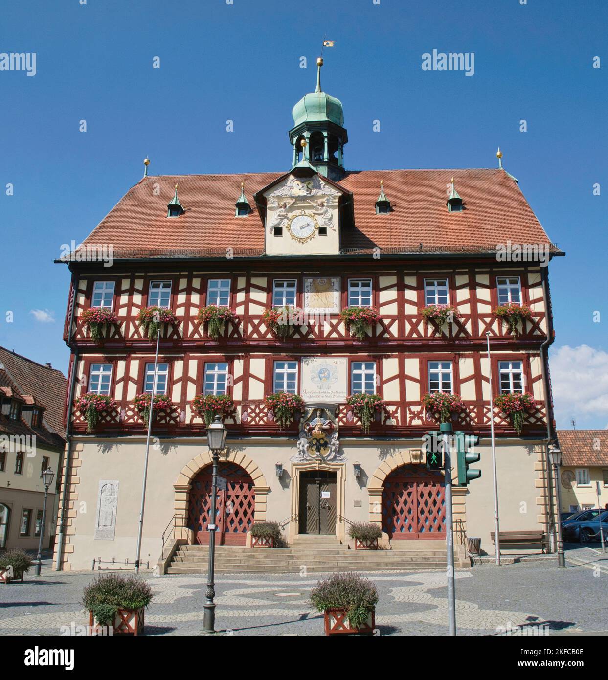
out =
{"type": "Polygon", "coordinates": [[[310,603],[317,611],[345,609],[352,628],[360,628],[378,602],[373,583],[355,572],[334,573],[310,591],[310,603]]]}

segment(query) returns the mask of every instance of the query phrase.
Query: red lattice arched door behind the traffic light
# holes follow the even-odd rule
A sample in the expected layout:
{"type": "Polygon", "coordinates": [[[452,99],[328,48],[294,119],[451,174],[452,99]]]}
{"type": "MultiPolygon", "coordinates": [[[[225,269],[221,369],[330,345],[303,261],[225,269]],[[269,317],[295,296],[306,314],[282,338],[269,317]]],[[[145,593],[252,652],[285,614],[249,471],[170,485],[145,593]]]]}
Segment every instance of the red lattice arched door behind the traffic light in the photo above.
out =
{"type": "Polygon", "coordinates": [[[382,530],[394,539],[445,538],[443,475],[422,465],[402,465],[382,484],[382,530]]]}

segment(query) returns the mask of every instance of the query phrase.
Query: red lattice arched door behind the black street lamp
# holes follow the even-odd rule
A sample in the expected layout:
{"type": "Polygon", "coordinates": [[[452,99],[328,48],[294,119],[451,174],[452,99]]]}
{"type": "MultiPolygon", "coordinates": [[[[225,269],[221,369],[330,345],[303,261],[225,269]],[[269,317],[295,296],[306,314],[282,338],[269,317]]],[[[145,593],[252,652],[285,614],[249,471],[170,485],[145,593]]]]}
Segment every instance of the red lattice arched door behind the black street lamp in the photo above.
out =
{"type": "MultiPolygon", "coordinates": [[[[208,545],[210,523],[211,465],[203,468],[192,478],[190,502],[188,503],[188,528],[194,532],[195,542],[208,545]]],[[[247,532],[254,521],[254,481],[249,473],[233,462],[218,464],[218,477],[226,479],[226,491],[218,490],[216,503],[217,545],[245,545],[247,532]]]]}

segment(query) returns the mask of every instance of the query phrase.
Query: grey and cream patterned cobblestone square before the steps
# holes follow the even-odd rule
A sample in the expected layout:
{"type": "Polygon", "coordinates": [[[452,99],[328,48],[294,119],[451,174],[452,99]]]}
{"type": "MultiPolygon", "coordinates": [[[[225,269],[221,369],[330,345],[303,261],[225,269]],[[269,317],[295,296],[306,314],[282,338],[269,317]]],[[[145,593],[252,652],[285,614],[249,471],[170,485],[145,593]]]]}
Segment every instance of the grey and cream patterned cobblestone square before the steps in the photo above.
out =
{"type": "MultiPolygon", "coordinates": [[[[82,588],[97,574],[57,573],[0,586],[0,634],[61,634],[61,626],[88,623],[82,588]]],[[[445,572],[374,572],[381,635],[447,632],[445,572]]],[[[205,575],[143,574],[155,596],[146,611],[148,635],[196,635],[202,628],[205,575]]],[[[216,628],[233,635],[320,635],[322,614],[307,603],[311,574],[217,576],[216,628]]],[[[608,630],[608,554],[567,552],[567,568],[550,556],[537,562],[477,565],[456,573],[458,634],[488,635],[513,626],[547,626],[552,632],[608,630]]]]}

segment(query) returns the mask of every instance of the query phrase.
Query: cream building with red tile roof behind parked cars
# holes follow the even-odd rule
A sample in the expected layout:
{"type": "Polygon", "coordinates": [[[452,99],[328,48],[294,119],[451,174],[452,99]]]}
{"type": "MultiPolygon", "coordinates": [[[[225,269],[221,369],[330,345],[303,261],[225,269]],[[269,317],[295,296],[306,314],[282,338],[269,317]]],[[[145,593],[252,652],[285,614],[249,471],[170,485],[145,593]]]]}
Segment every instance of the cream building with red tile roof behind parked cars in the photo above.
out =
{"type": "Polygon", "coordinates": [[[562,512],[608,509],[608,430],[557,430],[562,512]]]}

